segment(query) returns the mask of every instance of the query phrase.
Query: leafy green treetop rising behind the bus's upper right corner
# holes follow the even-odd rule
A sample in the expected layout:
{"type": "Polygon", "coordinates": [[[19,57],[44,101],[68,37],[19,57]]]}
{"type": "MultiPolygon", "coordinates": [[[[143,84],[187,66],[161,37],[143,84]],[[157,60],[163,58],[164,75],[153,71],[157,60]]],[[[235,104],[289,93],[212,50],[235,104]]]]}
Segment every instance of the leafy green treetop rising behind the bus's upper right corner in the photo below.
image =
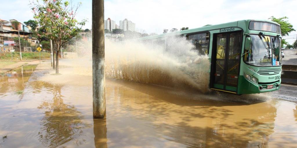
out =
{"type": "Polygon", "coordinates": [[[275,18],[274,16],[272,16],[269,19],[279,23],[282,36],[287,36],[290,32],[296,31],[295,29],[293,29],[293,25],[285,20],[288,19],[288,17],[275,18]]]}

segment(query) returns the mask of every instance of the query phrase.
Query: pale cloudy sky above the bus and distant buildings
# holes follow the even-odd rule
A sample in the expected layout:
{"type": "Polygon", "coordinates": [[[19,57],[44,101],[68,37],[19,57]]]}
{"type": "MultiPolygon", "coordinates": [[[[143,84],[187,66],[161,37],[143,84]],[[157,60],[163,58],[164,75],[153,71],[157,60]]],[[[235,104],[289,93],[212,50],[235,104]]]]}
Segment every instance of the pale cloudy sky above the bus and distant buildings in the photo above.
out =
{"type": "MultiPolygon", "coordinates": [[[[83,29],[91,29],[91,0],[82,2],[77,19],[88,19],[83,29]]],[[[0,0],[0,19],[16,19],[24,22],[33,19],[29,0],[0,0]]],[[[206,24],[221,24],[245,19],[268,19],[271,16],[287,16],[297,30],[297,0],[105,0],[105,19],[110,17],[119,25],[127,18],[136,23],[142,33],[162,33],[163,29],[182,27],[199,28],[206,24]]],[[[296,40],[297,32],[290,33],[290,44],[296,40]]]]}

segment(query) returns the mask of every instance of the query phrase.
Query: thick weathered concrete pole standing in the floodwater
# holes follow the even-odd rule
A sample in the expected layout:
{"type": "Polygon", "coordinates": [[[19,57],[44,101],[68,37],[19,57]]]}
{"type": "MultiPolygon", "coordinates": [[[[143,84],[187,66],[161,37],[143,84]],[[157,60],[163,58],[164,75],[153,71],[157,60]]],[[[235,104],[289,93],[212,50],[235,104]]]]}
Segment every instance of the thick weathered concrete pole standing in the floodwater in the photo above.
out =
{"type": "Polygon", "coordinates": [[[93,118],[105,117],[104,0],[92,0],[93,118]]]}

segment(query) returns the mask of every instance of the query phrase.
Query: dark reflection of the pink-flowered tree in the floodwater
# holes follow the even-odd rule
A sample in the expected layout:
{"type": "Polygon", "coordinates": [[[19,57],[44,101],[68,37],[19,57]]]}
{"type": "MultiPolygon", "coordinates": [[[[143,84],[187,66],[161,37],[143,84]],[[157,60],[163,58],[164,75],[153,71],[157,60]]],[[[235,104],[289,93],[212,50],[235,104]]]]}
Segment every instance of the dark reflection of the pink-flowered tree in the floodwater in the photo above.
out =
{"type": "Polygon", "coordinates": [[[83,144],[86,140],[77,137],[83,135],[83,128],[90,126],[83,122],[84,115],[74,105],[63,102],[61,86],[45,82],[40,84],[50,88],[48,91],[52,92],[53,99],[43,101],[38,107],[44,113],[40,122],[42,128],[37,135],[39,140],[45,147],[57,147],[69,141],[83,144]]]}

